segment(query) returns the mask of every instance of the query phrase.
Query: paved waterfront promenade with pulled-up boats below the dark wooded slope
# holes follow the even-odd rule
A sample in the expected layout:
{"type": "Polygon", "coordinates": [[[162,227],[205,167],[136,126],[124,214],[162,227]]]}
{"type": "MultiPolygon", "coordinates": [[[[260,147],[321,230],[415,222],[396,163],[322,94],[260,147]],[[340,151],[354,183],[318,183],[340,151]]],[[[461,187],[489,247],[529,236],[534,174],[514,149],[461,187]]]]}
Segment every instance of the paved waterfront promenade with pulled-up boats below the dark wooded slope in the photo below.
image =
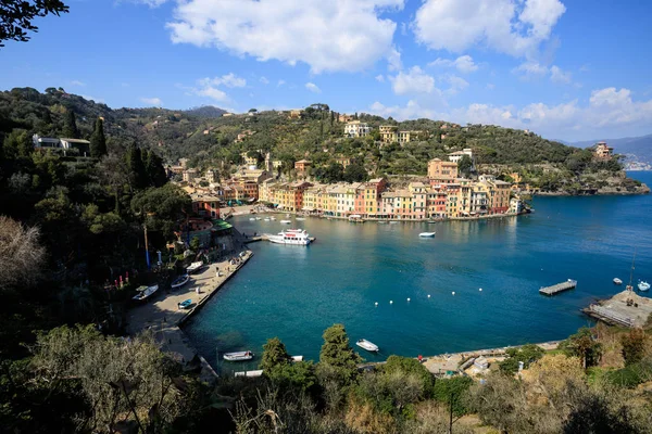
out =
{"type": "Polygon", "coordinates": [[[201,365],[201,379],[213,380],[216,374],[211,366],[201,357],[190,343],[180,326],[215,294],[253,256],[246,251],[240,263],[230,265],[229,260],[204,266],[183,288],[159,290],[156,296],[141,306],[129,310],[127,316],[127,332],[131,335],[149,331],[153,333],[161,349],[186,367],[201,365]],[[220,270],[217,276],[216,270],[220,270]],[[199,293],[197,292],[199,289],[199,293]],[[187,309],[179,309],[178,304],[191,299],[187,309]]]}

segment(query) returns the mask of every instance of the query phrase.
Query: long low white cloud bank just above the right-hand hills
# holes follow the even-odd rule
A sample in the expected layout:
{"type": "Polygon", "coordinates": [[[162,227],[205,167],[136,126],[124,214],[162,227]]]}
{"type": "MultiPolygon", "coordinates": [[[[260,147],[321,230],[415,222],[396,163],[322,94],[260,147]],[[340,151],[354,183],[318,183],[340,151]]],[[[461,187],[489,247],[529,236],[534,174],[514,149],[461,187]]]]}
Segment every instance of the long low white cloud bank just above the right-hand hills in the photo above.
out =
{"type": "Polygon", "coordinates": [[[459,124],[500,125],[530,129],[548,138],[591,139],[601,135],[644,133],[652,124],[652,100],[635,101],[628,89],[605,88],[591,92],[589,103],[579,100],[549,105],[541,102],[515,105],[473,103],[439,112],[411,100],[406,105],[385,106],[375,102],[369,112],[397,119],[428,117],[459,124]]]}

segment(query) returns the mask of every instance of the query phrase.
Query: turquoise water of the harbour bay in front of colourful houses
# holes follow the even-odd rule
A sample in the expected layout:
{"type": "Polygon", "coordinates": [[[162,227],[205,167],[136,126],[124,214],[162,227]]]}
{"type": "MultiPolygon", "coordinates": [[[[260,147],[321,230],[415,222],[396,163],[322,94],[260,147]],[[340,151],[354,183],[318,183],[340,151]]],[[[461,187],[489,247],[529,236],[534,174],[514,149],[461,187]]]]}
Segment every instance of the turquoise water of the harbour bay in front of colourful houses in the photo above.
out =
{"type": "MultiPolygon", "coordinates": [[[[652,184],[650,173],[631,176],[652,184]]],[[[629,280],[634,246],[635,280],[652,281],[651,195],[537,197],[534,206],[528,216],[472,222],[296,221],[317,242],[251,244],[254,257],[185,330],[213,363],[217,350],[260,355],[273,336],[317,360],[322,333],[336,322],[351,341],[380,346],[378,355],[361,350],[367,360],[426,356],[566,337],[591,323],[580,308],[624,290],[612,279],[629,280]],[[419,239],[426,230],[436,238],[419,239]],[[569,278],[574,291],[538,292],[569,278]]],[[[233,222],[247,233],[281,229],[278,220],[233,222]]]]}

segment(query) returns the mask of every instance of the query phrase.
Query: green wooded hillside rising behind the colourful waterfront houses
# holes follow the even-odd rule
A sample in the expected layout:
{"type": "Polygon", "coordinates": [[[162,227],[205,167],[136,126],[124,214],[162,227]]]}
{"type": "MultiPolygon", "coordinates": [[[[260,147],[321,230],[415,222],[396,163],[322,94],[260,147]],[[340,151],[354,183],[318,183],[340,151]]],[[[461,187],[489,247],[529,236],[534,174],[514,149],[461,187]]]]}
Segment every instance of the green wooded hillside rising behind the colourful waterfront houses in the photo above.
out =
{"type": "Polygon", "coordinates": [[[280,171],[290,179],[294,162],[309,158],[313,176],[324,180],[337,157],[350,158],[360,173],[368,176],[425,175],[429,159],[447,159],[450,152],[471,148],[478,169],[499,166],[497,175],[518,173],[524,182],[546,191],[634,192],[637,187],[617,175],[622,167],[616,161],[593,162],[590,152],[580,148],[493,125],[459,126],[431,119],[398,123],[363,113],[355,117],[368,124],[372,133],[344,138],[346,124],[338,120],[340,114],[323,103],[305,107],[300,118],[276,111],[222,116],[225,112],[213,106],[188,111],[113,110],[61,88],[48,88],[45,93],[16,88],[0,93],[0,132],[24,128],[30,133],[60,136],[68,111],[77,117],[82,138],[90,136],[92,123],[102,116],[110,149],[138,143],[155,150],[168,164],[187,157],[190,167],[221,167],[223,178],[241,163],[244,152],[269,152],[273,159],[283,162],[280,171]],[[421,131],[422,136],[409,143],[381,143],[380,125],[421,131]],[[238,140],[242,132],[249,136],[238,140]],[[623,182],[626,184],[620,186],[623,182]]]}

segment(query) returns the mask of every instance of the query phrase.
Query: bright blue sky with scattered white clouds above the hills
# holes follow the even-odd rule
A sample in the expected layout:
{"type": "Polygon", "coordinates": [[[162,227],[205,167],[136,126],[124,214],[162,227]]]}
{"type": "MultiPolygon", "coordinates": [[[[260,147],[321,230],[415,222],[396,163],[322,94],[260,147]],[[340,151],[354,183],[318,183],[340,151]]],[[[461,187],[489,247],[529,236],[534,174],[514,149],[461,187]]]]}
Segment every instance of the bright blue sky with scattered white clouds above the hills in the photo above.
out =
{"type": "Polygon", "coordinates": [[[7,90],[111,107],[342,113],[523,128],[565,141],[652,132],[652,1],[65,0],[0,48],[7,90]]]}

